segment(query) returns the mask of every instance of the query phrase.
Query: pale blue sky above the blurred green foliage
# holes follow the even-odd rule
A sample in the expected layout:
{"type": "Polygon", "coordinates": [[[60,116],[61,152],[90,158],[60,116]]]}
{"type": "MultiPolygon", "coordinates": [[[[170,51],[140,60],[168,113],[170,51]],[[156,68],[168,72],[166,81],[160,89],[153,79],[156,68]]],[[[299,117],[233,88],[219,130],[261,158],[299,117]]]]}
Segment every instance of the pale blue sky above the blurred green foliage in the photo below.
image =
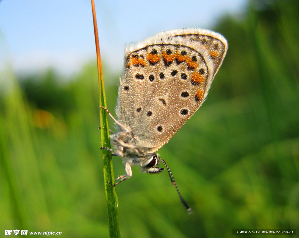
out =
{"type": "MultiPolygon", "coordinates": [[[[120,71],[124,46],[164,30],[211,28],[246,0],[95,0],[102,60],[120,71]]],[[[89,0],[0,1],[0,70],[80,71],[96,58],[89,0]]]]}

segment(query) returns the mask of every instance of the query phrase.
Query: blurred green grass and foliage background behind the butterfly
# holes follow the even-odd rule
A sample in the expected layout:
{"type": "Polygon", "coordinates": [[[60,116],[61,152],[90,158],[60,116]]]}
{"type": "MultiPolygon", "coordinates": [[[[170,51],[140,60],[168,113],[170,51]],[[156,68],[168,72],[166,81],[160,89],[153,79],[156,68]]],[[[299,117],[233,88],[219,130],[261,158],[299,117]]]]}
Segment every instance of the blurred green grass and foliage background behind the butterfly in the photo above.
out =
{"type": "MultiPolygon", "coordinates": [[[[167,172],[133,167],[116,187],[122,237],[298,234],[298,12],[298,1],[251,1],[242,17],[219,20],[213,30],[229,48],[208,99],[159,150],[193,213],[167,172]]],[[[104,67],[110,111],[119,74],[104,67]]],[[[30,76],[7,69],[1,77],[1,232],[108,237],[96,62],[68,79],[51,69],[30,76]]],[[[113,161],[115,176],[123,174],[121,159],[113,161]]]]}

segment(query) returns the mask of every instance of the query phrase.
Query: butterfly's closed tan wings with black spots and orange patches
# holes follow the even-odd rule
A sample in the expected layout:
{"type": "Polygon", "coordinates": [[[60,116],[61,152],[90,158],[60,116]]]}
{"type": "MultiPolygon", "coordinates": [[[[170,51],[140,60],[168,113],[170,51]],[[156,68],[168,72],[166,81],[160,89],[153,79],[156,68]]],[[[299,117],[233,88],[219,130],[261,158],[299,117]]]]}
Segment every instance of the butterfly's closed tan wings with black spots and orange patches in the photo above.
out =
{"type": "Polygon", "coordinates": [[[226,50],[223,36],[202,29],[129,45],[116,112],[136,147],[155,152],[173,137],[204,102],[226,50]]]}

